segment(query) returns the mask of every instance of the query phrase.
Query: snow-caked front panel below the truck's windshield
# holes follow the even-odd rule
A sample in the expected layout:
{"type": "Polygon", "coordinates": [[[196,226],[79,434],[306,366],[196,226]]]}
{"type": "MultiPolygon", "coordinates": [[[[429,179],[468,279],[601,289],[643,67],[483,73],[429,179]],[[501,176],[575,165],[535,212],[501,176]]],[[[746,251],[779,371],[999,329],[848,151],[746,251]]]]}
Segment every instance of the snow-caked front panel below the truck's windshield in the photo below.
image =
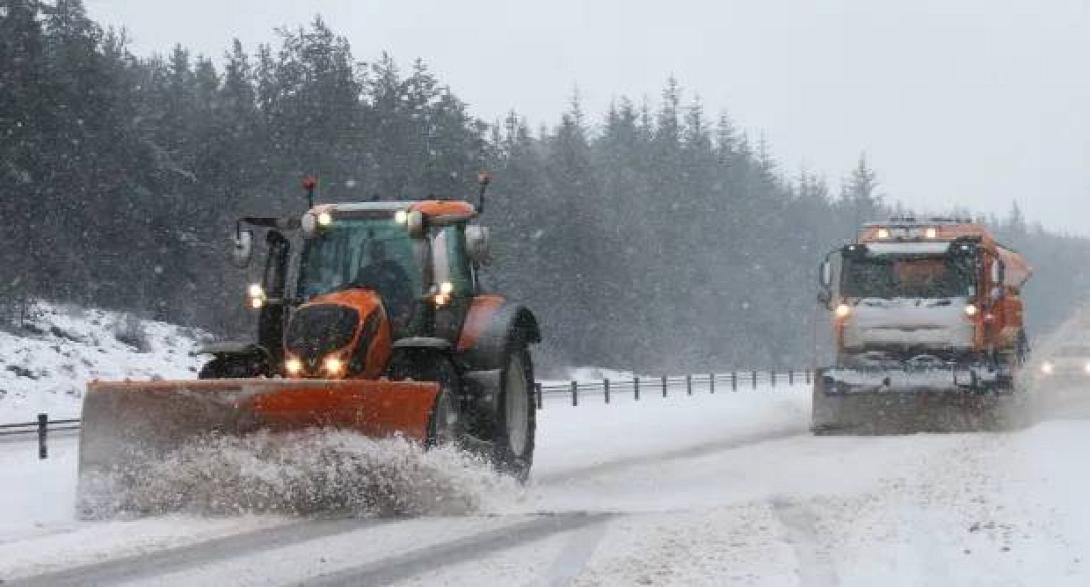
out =
{"type": "Polygon", "coordinates": [[[849,302],[844,346],[971,348],[973,321],[965,314],[968,304],[968,297],[864,297],[849,302]]]}

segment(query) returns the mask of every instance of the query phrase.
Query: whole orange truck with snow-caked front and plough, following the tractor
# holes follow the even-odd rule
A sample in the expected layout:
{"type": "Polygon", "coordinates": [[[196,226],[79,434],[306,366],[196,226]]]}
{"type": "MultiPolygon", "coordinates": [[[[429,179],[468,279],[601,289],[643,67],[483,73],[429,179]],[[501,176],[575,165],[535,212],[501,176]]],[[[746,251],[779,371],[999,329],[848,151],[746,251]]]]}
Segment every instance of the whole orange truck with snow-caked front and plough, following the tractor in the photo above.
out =
{"type": "Polygon", "coordinates": [[[814,432],[976,429],[1025,416],[1016,383],[1030,268],[985,227],[867,224],[820,273],[836,364],[814,380],[814,432]]]}

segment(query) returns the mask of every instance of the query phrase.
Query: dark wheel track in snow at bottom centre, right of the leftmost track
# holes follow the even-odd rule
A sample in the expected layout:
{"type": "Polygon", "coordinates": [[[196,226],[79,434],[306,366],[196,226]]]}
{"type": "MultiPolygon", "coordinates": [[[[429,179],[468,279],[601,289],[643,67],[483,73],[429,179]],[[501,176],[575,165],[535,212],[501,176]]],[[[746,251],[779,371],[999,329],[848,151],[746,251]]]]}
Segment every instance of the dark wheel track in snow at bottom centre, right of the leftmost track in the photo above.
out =
{"type": "Polygon", "coordinates": [[[534,542],[554,534],[602,524],[610,513],[546,515],[521,524],[425,547],[397,557],[346,568],[303,582],[304,585],[389,585],[428,571],[464,563],[534,542]]]}

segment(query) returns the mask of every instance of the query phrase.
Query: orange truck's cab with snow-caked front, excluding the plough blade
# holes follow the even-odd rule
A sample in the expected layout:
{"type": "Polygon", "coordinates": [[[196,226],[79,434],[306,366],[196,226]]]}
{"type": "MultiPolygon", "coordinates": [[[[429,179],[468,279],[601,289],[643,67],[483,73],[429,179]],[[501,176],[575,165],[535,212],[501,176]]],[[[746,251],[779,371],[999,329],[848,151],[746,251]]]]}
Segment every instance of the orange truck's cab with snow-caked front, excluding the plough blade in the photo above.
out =
{"type": "Polygon", "coordinates": [[[836,365],[948,368],[959,384],[1009,386],[1026,353],[1028,278],[1017,253],[968,220],[867,224],[820,269],[836,365]]]}

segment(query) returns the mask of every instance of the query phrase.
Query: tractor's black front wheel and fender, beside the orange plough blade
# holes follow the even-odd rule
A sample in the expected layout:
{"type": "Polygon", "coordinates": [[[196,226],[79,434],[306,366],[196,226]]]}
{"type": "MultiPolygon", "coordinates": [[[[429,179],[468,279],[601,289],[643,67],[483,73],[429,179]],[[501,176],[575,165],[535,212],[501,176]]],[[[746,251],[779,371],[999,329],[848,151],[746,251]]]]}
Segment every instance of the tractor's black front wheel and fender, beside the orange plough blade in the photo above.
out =
{"type": "Polygon", "coordinates": [[[439,383],[439,393],[427,415],[425,445],[431,448],[461,443],[464,437],[464,418],[459,393],[460,379],[449,358],[427,351],[399,353],[390,363],[390,378],[439,383]]]}

